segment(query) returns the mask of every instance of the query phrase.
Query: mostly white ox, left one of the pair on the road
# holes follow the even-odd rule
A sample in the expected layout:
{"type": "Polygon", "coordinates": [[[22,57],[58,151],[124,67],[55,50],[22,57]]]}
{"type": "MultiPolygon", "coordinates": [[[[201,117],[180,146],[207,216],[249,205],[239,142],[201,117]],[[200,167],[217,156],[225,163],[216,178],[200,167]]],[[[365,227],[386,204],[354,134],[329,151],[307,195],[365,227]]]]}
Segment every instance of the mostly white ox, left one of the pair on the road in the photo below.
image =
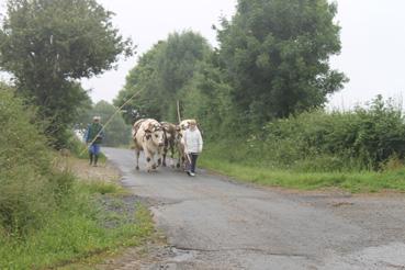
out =
{"type": "Polygon", "coordinates": [[[161,164],[165,146],[161,124],[153,119],[140,119],[135,122],[132,134],[135,143],[136,169],[139,170],[139,153],[144,151],[147,171],[155,170],[161,164]],[[155,156],[158,158],[157,164],[155,156]]]}

